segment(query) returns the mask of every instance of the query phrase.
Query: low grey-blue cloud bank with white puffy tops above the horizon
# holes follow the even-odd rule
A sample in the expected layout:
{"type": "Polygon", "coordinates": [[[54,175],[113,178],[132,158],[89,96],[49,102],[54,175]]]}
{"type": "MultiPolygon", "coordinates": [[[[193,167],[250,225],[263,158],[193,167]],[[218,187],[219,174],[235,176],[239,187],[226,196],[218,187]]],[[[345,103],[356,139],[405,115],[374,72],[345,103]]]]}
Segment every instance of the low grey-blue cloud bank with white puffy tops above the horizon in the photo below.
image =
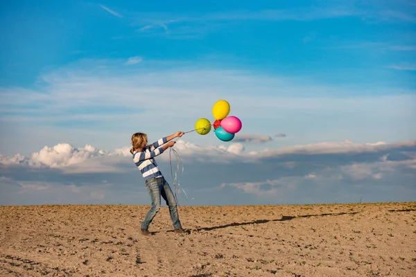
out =
{"type": "MultiPolygon", "coordinates": [[[[242,143],[202,146],[180,140],[175,149],[181,163],[169,151],[157,161],[171,186],[170,167],[173,175],[180,167],[181,187],[193,199],[182,195],[180,204],[415,200],[416,141],[322,142],[247,152],[242,143]]],[[[60,143],[31,157],[0,155],[0,204],[146,204],[143,179],[128,150],[60,143]]]]}

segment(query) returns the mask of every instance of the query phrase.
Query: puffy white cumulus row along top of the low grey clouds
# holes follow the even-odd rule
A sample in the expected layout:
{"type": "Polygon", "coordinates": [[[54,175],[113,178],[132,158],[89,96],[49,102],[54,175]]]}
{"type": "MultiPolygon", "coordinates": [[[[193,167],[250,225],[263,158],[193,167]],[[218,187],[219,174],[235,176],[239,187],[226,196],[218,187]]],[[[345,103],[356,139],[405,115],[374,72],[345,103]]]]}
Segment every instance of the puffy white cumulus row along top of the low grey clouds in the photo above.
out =
{"type": "MultiPolygon", "coordinates": [[[[295,145],[282,148],[269,149],[265,148],[259,152],[245,152],[241,143],[231,143],[227,146],[201,146],[183,140],[178,140],[175,144],[175,150],[181,159],[191,161],[192,158],[198,161],[213,163],[230,163],[232,161],[257,162],[263,158],[281,157],[282,155],[291,154],[348,154],[348,153],[374,153],[383,150],[395,150],[403,147],[416,146],[416,141],[401,141],[398,143],[352,143],[344,142],[324,142],[309,145],[295,145]]],[[[158,159],[164,161],[174,157],[171,150],[166,150],[158,159]]],[[[409,158],[414,154],[410,152],[409,158]]],[[[92,145],[85,145],[83,148],[75,148],[68,143],[59,143],[51,148],[45,146],[39,152],[34,152],[31,158],[26,158],[21,154],[12,156],[0,155],[0,163],[4,166],[29,166],[29,167],[47,167],[61,168],[66,172],[104,172],[107,170],[116,170],[114,167],[117,163],[130,163],[130,147],[117,148],[110,152],[107,150],[97,150],[92,145]]],[[[387,155],[380,159],[394,166],[401,165],[415,166],[409,161],[388,161],[387,155]]],[[[174,157],[175,158],[175,157],[174,157]]],[[[360,164],[343,167],[343,171],[355,175],[357,178],[372,175],[370,168],[365,168],[360,164]]]]}

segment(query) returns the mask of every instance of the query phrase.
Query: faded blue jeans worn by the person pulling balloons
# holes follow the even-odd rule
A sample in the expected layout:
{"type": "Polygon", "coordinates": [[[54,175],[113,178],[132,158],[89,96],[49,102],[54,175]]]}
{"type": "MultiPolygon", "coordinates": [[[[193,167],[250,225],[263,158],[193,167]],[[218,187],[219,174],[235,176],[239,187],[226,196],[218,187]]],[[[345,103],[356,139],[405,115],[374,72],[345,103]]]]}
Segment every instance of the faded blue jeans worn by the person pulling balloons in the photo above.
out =
{"type": "Polygon", "coordinates": [[[176,199],[172,193],[171,187],[164,179],[164,177],[147,179],[145,184],[150,195],[150,200],[152,201],[152,207],[148,211],[144,221],[141,222],[141,229],[148,229],[149,224],[153,220],[153,217],[155,217],[157,212],[159,212],[161,196],[166,201],[166,205],[169,207],[169,213],[171,214],[173,228],[181,228],[182,225],[180,224],[179,215],[177,214],[176,199]]]}

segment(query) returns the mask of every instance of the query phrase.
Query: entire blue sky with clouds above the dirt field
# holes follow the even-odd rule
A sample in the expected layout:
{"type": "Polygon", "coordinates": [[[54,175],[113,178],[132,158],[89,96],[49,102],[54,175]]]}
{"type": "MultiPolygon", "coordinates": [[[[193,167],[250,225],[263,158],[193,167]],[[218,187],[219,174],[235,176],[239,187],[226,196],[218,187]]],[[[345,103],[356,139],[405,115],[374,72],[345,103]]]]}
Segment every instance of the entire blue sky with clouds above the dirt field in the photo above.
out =
{"type": "Polygon", "coordinates": [[[406,0],[1,3],[8,194],[0,204],[147,204],[125,154],[131,134],[156,141],[198,118],[213,122],[220,99],[243,128],[228,143],[214,132],[182,137],[188,204],[227,204],[229,193],[234,204],[414,200],[415,8],[406,0]],[[205,156],[223,157],[235,180],[205,156]]]}

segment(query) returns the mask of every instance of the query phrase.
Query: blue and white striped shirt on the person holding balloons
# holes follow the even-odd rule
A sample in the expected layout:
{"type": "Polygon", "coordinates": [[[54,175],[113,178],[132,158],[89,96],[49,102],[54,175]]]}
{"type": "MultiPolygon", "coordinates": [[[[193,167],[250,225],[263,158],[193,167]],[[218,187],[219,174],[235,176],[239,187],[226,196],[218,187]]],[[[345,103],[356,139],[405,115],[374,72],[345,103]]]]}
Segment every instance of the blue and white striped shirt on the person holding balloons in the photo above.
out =
{"type": "Polygon", "coordinates": [[[162,177],[162,172],[159,170],[159,166],[154,159],[154,157],[162,154],[164,152],[163,148],[160,146],[166,143],[168,140],[166,136],[162,139],[159,139],[155,143],[146,145],[143,151],[133,152],[133,161],[135,162],[137,168],[141,171],[144,180],[150,179],[152,177],[162,177]]]}

